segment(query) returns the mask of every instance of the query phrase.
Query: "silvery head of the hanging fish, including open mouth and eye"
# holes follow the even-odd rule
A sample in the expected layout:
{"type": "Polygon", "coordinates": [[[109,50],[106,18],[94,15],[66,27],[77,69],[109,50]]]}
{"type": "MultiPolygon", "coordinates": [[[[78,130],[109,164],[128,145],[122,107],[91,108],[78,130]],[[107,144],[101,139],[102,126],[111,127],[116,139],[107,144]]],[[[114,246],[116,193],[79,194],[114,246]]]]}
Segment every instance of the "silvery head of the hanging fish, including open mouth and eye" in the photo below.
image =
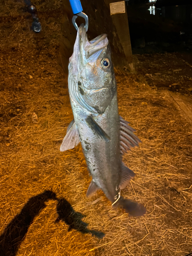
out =
{"type": "Polygon", "coordinates": [[[79,27],[69,63],[70,73],[71,96],[88,110],[104,113],[117,90],[106,34],[89,41],[84,25],[79,27]]]}

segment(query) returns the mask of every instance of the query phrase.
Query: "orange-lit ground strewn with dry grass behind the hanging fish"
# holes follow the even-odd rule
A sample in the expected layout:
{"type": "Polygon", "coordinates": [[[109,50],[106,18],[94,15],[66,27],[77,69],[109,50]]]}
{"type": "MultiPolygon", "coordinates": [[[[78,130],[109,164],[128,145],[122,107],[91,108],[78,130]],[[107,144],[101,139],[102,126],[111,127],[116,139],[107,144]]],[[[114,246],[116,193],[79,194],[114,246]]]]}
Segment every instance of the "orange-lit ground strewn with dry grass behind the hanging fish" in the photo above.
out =
{"type": "Polygon", "coordinates": [[[147,212],[132,218],[113,208],[101,191],[86,198],[91,177],[80,146],[59,152],[73,118],[67,80],[57,65],[62,13],[53,6],[46,16],[40,3],[41,34],[30,31],[20,3],[11,11],[5,4],[0,23],[0,255],[192,252],[191,123],[157,86],[186,84],[183,94],[189,98],[191,75],[183,81],[174,71],[183,70],[168,62],[177,54],[135,56],[137,75],[116,70],[119,113],[142,140],[124,156],[136,177],[123,195],[147,212]],[[154,58],[161,65],[164,59],[170,73],[154,58]]]}

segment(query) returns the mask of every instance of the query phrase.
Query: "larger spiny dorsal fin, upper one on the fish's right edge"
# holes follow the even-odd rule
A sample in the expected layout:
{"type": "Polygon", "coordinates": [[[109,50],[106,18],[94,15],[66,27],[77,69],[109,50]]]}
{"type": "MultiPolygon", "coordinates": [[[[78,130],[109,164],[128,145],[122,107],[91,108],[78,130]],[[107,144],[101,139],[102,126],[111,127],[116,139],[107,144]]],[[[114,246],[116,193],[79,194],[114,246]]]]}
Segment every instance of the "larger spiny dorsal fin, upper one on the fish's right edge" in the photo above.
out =
{"type": "Polygon", "coordinates": [[[141,142],[133,132],[135,130],[129,125],[129,122],[120,116],[120,151],[122,155],[141,142]]]}

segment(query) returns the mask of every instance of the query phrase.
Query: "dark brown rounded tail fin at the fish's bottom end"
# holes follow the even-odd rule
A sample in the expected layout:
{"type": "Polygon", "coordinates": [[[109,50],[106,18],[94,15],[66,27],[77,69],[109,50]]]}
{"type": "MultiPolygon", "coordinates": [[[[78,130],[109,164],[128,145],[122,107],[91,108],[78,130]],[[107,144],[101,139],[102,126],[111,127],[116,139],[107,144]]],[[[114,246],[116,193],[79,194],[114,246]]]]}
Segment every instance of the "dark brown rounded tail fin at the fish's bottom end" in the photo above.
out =
{"type": "Polygon", "coordinates": [[[129,199],[120,200],[119,205],[122,206],[126,212],[128,212],[133,217],[142,216],[145,214],[146,209],[142,204],[131,201],[129,199]]]}

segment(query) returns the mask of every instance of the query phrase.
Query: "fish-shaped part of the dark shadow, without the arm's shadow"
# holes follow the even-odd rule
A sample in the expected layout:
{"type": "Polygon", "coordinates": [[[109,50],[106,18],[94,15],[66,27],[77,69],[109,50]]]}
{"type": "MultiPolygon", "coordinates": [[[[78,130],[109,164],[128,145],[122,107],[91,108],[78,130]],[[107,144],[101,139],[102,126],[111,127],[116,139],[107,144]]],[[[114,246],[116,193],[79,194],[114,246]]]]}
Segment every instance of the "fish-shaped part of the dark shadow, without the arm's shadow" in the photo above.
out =
{"type": "Polygon", "coordinates": [[[97,238],[104,237],[104,233],[94,229],[88,229],[88,224],[81,220],[85,216],[82,215],[80,212],[75,211],[71,204],[65,198],[58,200],[57,214],[58,218],[55,222],[59,222],[60,220],[64,221],[67,225],[69,225],[68,231],[70,231],[71,229],[76,229],[81,233],[91,233],[92,236],[96,236],[97,238]]]}

